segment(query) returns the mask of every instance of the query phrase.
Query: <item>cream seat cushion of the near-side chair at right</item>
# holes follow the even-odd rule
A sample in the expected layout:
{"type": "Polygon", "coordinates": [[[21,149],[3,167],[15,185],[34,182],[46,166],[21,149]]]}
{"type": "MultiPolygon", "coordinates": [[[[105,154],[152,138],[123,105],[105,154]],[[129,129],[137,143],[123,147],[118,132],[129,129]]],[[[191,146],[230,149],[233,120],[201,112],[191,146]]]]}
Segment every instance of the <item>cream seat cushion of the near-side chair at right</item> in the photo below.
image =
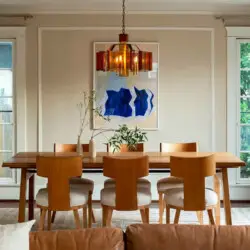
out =
{"type": "MultiPolygon", "coordinates": [[[[166,204],[179,208],[184,208],[184,188],[169,189],[164,194],[164,200],[166,204]]],[[[217,194],[211,190],[205,189],[205,203],[206,207],[215,206],[218,202],[217,194]]]]}

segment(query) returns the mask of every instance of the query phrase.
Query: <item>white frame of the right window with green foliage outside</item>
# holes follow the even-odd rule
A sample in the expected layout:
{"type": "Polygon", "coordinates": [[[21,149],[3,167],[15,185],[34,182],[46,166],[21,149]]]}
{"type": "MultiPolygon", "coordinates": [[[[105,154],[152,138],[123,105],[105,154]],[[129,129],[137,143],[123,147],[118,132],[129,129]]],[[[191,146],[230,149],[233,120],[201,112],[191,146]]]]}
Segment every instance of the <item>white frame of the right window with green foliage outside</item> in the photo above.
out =
{"type": "MultiPolygon", "coordinates": [[[[250,28],[227,29],[227,151],[240,156],[240,44],[250,42],[250,28]]],[[[250,178],[241,178],[240,168],[235,169],[235,185],[250,185],[250,178]]]]}

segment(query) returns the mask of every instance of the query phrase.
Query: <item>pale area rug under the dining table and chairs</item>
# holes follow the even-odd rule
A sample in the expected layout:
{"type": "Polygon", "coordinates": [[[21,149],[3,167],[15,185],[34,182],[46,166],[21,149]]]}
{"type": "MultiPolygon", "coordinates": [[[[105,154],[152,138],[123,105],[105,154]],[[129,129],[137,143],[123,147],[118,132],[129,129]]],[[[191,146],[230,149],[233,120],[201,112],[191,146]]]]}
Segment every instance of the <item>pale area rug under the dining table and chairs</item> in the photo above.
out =
{"type": "MultiPolygon", "coordinates": [[[[27,210],[26,210],[27,213],[27,210]]],[[[93,227],[101,227],[102,211],[94,209],[96,223],[93,227]]],[[[174,219],[174,210],[171,210],[171,221],[174,219]]],[[[17,222],[17,208],[1,208],[0,209],[0,224],[13,224],[17,222]]],[[[82,213],[79,211],[82,221],[82,213]]],[[[32,228],[33,231],[38,228],[40,210],[35,209],[36,223],[32,228]]],[[[157,208],[150,209],[150,223],[158,223],[159,212],[157,208]]],[[[27,215],[26,215],[27,218],[27,215]]],[[[232,208],[233,225],[250,225],[250,207],[249,208],[232,208]]],[[[165,217],[164,217],[165,222],[165,217]]],[[[112,217],[112,226],[119,227],[123,230],[130,224],[141,223],[139,211],[132,212],[117,212],[114,211],[112,217]]],[[[180,216],[180,224],[199,224],[195,212],[182,212],[180,216]]],[[[207,214],[204,212],[204,224],[208,224],[207,214]]],[[[221,209],[221,225],[225,225],[224,209],[221,209]]],[[[56,220],[52,226],[52,230],[73,229],[75,228],[73,212],[58,212],[56,220]]]]}

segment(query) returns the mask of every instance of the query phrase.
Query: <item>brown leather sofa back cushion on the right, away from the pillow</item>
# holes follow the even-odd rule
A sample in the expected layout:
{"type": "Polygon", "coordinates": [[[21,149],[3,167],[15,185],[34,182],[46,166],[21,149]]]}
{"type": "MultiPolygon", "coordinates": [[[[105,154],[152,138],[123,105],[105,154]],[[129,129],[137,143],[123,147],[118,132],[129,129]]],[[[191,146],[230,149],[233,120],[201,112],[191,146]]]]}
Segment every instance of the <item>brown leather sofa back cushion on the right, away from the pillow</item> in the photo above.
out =
{"type": "Polygon", "coordinates": [[[128,250],[249,250],[250,226],[130,225],[128,250]]]}

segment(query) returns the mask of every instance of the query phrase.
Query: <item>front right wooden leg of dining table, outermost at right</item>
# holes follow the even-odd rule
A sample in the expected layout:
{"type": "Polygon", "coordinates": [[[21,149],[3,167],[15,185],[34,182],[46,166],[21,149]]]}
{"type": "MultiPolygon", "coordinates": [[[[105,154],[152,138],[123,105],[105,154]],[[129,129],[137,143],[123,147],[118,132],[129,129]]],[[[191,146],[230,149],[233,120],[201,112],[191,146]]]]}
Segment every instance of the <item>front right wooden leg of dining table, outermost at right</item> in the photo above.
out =
{"type": "Polygon", "coordinates": [[[232,225],[227,168],[222,169],[222,181],[223,181],[223,191],[224,191],[224,209],[225,209],[226,225],[232,225]]]}

